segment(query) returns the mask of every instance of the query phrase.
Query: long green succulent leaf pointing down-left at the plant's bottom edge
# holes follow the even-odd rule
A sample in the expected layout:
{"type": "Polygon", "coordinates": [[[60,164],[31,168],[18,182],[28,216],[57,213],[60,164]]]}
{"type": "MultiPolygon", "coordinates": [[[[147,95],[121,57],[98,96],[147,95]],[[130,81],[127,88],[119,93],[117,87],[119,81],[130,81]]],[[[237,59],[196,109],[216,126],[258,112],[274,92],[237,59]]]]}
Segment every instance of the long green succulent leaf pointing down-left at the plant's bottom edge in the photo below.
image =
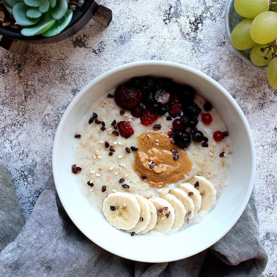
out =
{"type": "Polygon", "coordinates": [[[40,35],[49,30],[55,22],[56,21],[52,18],[51,13],[47,12],[42,15],[41,20],[37,24],[32,27],[22,29],[21,34],[28,37],[40,35]]]}

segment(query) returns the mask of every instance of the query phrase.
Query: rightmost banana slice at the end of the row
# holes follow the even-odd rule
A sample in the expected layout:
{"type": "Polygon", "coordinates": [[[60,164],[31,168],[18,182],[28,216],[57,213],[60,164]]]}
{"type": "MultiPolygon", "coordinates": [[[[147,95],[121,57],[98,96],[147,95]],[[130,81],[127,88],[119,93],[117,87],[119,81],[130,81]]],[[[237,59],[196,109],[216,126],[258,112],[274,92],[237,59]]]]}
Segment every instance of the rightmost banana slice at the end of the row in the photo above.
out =
{"type": "Polygon", "coordinates": [[[216,201],[217,191],[215,186],[202,176],[194,176],[192,179],[188,180],[188,182],[197,188],[202,196],[200,211],[209,211],[216,201]]]}

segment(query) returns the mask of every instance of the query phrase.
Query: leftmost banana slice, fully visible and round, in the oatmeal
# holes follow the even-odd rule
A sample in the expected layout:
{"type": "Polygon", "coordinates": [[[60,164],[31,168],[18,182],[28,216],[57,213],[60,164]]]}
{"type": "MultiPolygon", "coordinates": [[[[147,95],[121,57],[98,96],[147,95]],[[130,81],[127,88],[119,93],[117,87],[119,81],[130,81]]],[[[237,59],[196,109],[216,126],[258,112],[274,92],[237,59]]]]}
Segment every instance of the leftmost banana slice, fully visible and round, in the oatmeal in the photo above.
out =
{"type": "Polygon", "coordinates": [[[141,206],[130,193],[115,192],[104,199],[102,211],[110,225],[129,230],[140,220],[141,206]]]}

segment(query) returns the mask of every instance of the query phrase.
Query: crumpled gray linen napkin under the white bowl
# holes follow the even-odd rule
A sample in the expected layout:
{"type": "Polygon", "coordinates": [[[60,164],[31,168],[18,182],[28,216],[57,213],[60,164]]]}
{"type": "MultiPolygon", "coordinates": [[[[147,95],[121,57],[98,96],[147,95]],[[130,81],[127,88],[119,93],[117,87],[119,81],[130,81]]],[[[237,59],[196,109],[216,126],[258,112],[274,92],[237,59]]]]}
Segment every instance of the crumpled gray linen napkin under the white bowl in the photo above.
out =
{"type": "Polygon", "coordinates": [[[134,262],[86,238],[52,188],[26,224],[8,169],[0,164],[0,276],[259,276],[267,254],[258,239],[253,195],[236,225],[210,249],[170,263],[134,262]],[[24,225],[24,226],[23,226],[24,225]]]}

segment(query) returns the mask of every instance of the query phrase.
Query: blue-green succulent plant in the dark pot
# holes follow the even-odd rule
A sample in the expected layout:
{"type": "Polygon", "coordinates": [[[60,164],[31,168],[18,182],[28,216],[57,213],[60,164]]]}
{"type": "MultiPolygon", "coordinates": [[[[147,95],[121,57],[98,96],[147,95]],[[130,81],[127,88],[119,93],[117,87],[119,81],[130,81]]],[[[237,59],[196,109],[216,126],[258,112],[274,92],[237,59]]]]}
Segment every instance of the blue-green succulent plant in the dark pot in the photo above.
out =
{"type": "Polygon", "coordinates": [[[70,24],[73,11],[66,0],[2,0],[13,14],[16,24],[24,26],[24,36],[42,35],[51,37],[59,34],[70,24]]]}

